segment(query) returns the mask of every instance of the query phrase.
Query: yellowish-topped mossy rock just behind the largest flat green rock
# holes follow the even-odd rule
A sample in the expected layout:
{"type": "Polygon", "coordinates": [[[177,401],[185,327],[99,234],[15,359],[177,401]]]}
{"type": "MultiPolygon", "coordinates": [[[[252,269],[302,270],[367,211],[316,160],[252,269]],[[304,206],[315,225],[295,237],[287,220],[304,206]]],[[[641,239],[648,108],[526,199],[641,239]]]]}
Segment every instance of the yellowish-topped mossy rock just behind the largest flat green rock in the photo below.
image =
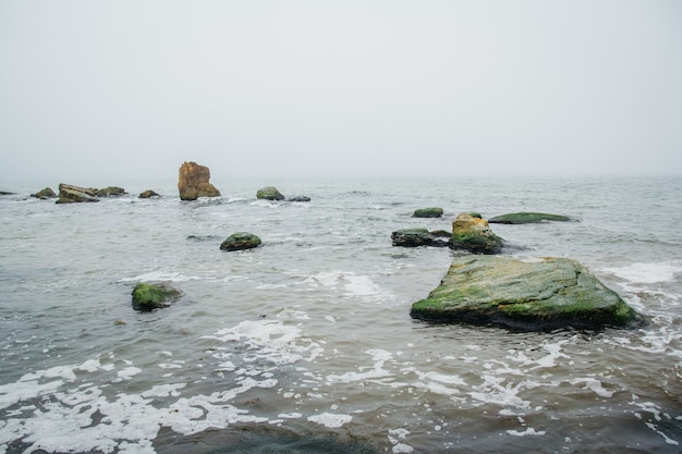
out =
{"type": "Polygon", "coordinates": [[[485,219],[462,212],[452,222],[453,249],[464,249],[472,254],[499,254],[502,246],[502,238],[492,233],[485,219]]]}

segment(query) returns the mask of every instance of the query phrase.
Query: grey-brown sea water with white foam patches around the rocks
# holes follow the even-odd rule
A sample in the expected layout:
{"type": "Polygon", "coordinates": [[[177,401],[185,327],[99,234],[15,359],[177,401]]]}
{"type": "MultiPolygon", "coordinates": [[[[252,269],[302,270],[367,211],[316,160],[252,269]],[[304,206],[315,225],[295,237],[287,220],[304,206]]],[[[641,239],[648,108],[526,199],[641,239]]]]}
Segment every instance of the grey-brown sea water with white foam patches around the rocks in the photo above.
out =
{"type": "Polygon", "coordinates": [[[65,183],[129,194],[0,187],[0,454],[682,452],[680,177],[211,180],[196,201],[172,179],[65,183]],[[646,326],[413,320],[458,253],[391,232],[462,211],[577,218],[490,226],[506,254],[576,259],[646,326]],[[242,231],[263,245],[219,249],[242,231]],[[182,297],[135,311],[138,282],[182,297]]]}

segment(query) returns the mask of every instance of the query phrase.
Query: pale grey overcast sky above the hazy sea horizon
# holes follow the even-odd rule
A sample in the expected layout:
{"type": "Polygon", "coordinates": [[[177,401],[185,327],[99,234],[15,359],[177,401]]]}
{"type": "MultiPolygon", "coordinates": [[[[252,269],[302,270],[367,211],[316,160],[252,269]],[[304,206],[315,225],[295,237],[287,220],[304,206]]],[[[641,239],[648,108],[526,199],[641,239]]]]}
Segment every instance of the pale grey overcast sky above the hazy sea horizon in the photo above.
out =
{"type": "Polygon", "coordinates": [[[682,1],[0,2],[0,184],[682,174],[682,1]]]}

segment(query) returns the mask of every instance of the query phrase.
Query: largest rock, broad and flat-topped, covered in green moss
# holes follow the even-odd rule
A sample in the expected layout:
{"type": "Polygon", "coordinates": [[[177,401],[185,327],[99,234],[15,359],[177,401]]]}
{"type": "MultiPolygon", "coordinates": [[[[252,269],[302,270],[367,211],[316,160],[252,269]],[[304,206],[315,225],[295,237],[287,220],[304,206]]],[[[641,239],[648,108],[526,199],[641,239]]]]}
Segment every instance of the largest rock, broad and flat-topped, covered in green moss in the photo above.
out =
{"type": "Polygon", "coordinates": [[[575,260],[466,256],[412,305],[414,318],[545,331],[631,327],[641,317],[575,260]]]}

